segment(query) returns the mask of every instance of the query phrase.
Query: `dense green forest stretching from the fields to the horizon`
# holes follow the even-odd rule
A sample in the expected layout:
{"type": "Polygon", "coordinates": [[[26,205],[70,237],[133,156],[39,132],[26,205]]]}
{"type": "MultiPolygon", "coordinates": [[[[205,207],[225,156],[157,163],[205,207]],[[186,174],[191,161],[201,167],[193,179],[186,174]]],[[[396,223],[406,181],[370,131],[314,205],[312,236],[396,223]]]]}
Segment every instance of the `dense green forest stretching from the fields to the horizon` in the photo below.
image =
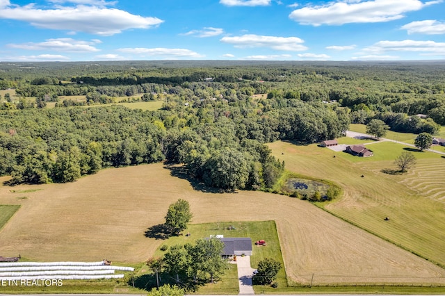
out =
{"type": "Polygon", "coordinates": [[[337,138],[373,119],[412,133],[445,124],[443,62],[0,63],[0,90],[11,183],[167,160],[207,186],[264,190],[284,170],[266,142],[337,138]],[[161,110],[110,105],[156,100],[161,110]]]}

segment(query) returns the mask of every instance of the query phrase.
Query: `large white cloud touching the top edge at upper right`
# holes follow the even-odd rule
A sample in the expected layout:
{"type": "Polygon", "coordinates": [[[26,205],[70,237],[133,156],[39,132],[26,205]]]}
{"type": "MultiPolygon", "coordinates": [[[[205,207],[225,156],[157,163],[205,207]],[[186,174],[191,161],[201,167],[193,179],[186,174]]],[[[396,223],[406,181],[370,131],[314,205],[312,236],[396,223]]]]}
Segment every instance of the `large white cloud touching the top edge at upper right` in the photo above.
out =
{"type": "Polygon", "coordinates": [[[293,10],[289,15],[291,19],[300,24],[341,25],[349,23],[375,23],[389,22],[401,19],[410,11],[440,3],[441,1],[430,1],[423,3],[419,0],[355,0],[334,1],[321,6],[305,6],[293,10]]]}

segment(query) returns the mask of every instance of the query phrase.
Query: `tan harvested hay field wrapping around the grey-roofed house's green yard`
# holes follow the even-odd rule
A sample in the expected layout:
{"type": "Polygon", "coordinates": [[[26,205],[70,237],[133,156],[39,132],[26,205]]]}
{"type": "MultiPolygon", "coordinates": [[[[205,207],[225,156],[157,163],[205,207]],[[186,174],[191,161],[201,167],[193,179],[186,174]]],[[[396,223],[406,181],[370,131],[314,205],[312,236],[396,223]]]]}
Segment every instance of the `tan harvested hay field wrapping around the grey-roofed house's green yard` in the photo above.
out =
{"type": "Polygon", "coordinates": [[[291,281],[308,283],[315,274],[314,284],[445,283],[444,269],[309,202],[264,192],[202,192],[170,173],[159,163],[102,170],[74,183],[13,188],[27,190],[27,199],[0,186],[0,204],[22,205],[0,232],[0,254],[145,261],[162,244],[145,231],[163,223],[168,205],[182,198],[191,204],[194,223],[275,220],[291,281]]]}

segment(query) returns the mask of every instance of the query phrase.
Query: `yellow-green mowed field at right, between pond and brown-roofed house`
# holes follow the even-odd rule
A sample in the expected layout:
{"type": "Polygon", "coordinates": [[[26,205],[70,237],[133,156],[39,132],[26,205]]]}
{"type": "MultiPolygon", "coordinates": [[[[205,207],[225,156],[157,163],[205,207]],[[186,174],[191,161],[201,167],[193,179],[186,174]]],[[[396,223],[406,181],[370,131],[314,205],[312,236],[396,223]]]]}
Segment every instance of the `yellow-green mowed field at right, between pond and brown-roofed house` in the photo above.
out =
{"type": "Polygon", "coordinates": [[[343,188],[343,197],[325,205],[328,211],[445,266],[445,158],[413,152],[417,165],[407,174],[391,175],[382,170],[396,169],[394,158],[405,151],[403,145],[367,145],[376,155],[366,159],[316,145],[268,146],[287,170],[343,188]]]}

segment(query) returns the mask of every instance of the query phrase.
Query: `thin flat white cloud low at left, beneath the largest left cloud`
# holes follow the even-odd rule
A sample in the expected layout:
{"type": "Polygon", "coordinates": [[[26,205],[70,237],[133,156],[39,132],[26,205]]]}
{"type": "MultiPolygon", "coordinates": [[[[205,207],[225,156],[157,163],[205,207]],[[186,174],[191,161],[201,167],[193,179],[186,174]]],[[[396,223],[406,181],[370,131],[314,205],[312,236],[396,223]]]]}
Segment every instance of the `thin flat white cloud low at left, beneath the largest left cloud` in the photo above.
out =
{"type": "Polygon", "coordinates": [[[28,42],[24,44],[8,44],[7,47],[26,50],[50,50],[50,51],[67,51],[67,52],[94,52],[100,51],[92,44],[101,43],[100,40],[81,41],[71,38],[48,39],[45,42],[34,43],[28,42]]]}

